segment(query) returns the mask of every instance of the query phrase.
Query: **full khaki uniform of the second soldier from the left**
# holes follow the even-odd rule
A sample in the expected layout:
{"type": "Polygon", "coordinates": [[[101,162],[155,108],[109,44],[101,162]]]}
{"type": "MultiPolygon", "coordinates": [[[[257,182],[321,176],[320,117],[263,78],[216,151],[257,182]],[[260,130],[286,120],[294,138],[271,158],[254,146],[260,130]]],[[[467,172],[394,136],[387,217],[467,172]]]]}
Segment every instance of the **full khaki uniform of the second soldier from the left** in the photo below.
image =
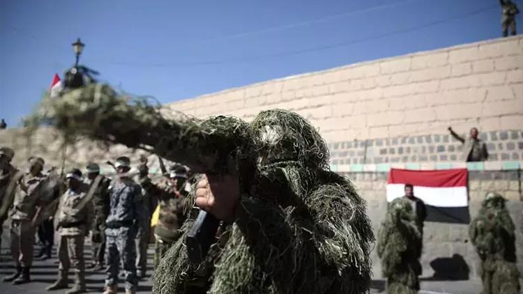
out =
{"type": "Polygon", "coordinates": [[[30,268],[33,263],[33,244],[35,241],[35,217],[37,206],[45,199],[41,199],[41,188],[45,177],[42,173],[32,176],[26,173],[17,187],[13,209],[10,212],[12,219],[10,227],[11,255],[17,266],[30,268]]]}

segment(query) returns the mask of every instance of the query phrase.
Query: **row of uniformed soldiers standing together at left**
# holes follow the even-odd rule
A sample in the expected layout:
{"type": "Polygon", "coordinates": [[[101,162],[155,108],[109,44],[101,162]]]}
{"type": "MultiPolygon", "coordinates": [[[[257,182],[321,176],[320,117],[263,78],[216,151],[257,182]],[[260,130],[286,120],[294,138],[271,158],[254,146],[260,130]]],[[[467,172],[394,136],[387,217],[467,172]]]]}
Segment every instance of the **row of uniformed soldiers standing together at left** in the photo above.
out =
{"type": "Polygon", "coordinates": [[[189,171],[181,164],[153,182],[146,160],[141,160],[137,173],[131,173],[130,159],[117,158],[116,176],[110,179],[92,162],[85,167],[85,176],[77,168],[64,176],[57,176],[54,169],[44,174],[41,157],[30,157],[23,172],[11,164],[14,155],[13,149],[0,148],[0,224],[10,218],[10,251],[16,265],[3,281],[13,284],[31,281],[36,228],[50,222],[52,232],[58,234],[59,274],[47,290],[69,288],[71,268],[75,285],[66,293],[86,291],[84,241],[90,236],[91,268],[107,271],[104,293],[116,293],[120,264],[126,293],[135,293],[138,280],[146,277],[151,234],[156,239],[156,267],[179,237],[184,212],[192,206],[186,199],[189,171]],[[153,212],[157,217],[151,231],[153,212]]]}

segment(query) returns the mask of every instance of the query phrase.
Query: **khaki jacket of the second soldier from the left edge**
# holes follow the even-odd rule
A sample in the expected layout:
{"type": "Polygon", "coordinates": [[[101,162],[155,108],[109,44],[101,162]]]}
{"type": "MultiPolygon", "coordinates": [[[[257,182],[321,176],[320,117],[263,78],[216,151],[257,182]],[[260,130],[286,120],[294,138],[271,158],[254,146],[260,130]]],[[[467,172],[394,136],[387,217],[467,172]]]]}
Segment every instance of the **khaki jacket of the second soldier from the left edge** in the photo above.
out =
{"type": "Polygon", "coordinates": [[[45,176],[38,173],[32,176],[31,173],[26,173],[24,178],[20,180],[15,194],[15,201],[13,202],[13,209],[10,215],[16,220],[31,220],[33,219],[37,206],[40,206],[46,199],[41,199],[45,176]]]}

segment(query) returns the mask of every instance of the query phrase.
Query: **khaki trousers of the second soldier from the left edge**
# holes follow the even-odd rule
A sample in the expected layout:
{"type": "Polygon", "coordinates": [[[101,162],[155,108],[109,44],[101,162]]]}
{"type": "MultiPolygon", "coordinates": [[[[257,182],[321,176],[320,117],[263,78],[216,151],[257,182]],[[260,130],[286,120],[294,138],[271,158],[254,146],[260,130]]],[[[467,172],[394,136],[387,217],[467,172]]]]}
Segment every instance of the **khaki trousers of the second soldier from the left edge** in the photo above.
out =
{"type": "Polygon", "coordinates": [[[30,220],[13,219],[10,227],[11,256],[17,266],[31,268],[35,228],[30,220]]]}

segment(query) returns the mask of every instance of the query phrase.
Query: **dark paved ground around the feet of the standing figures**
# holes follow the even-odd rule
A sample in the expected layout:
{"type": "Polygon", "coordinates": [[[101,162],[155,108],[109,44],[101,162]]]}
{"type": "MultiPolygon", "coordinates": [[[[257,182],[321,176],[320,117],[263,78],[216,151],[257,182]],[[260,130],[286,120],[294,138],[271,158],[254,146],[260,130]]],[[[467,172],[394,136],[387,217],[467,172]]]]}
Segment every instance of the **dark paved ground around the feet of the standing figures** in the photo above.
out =
{"type": "MultiPolygon", "coordinates": [[[[2,249],[0,256],[0,276],[5,276],[13,271],[13,262],[11,261],[8,251],[8,238],[4,230],[2,238],[2,249]]],[[[150,293],[151,292],[151,279],[150,274],[152,272],[153,262],[153,245],[149,246],[148,251],[148,272],[147,279],[140,281],[138,287],[138,293],[150,293]]],[[[47,261],[34,262],[31,270],[31,279],[33,282],[20,286],[15,286],[10,283],[3,283],[0,281],[0,293],[63,293],[64,291],[45,291],[45,287],[52,284],[56,279],[56,272],[58,265],[56,264],[56,255],[53,252],[53,257],[47,261]]],[[[90,261],[91,250],[89,244],[86,245],[85,250],[86,261],[90,261]]],[[[73,274],[70,274],[70,278],[73,274]]],[[[91,293],[101,293],[103,290],[103,283],[105,279],[105,272],[92,272],[91,270],[86,271],[86,283],[87,290],[91,293]]],[[[73,281],[70,279],[70,284],[73,281]]],[[[123,292],[123,283],[121,283],[119,292],[123,292]]],[[[384,293],[385,282],[383,280],[376,280],[373,283],[371,293],[384,293]]],[[[432,294],[432,293],[460,293],[460,294],[477,294],[481,291],[481,284],[479,280],[467,280],[467,281],[434,281],[430,278],[422,278],[421,281],[422,291],[420,293],[432,294]]]]}

